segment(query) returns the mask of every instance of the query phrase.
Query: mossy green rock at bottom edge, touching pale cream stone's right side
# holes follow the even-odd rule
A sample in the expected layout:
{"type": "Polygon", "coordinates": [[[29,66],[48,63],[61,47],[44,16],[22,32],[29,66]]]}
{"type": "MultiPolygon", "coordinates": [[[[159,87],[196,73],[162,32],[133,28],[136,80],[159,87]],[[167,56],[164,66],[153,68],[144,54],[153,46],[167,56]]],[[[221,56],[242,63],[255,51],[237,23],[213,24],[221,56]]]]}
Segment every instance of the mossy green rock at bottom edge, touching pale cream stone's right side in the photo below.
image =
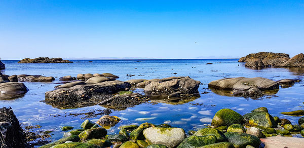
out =
{"type": "Polygon", "coordinates": [[[194,148],[200,147],[208,144],[216,143],[217,139],[214,135],[206,135],[206,136],[190,136],[185,138],[177,148],[194,148]]]}

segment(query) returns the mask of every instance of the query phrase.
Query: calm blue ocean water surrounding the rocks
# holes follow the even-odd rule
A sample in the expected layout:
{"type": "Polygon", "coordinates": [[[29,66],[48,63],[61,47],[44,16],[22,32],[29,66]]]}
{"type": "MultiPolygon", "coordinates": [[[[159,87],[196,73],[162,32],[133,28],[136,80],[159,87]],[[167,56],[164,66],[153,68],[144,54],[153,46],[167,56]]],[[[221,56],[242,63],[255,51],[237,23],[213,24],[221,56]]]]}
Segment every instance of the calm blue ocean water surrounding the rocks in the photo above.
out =
{"type": "MultiPolygon", "coordinates": [[[[112,116],[122,119],[116,126],[108,129],[108,133],[118,133],[119,126],[128,124],[168,123],[185,131],[197,130],[210,124],[214,114],[222,108],[231,108],[244,115],[257,107],[267,107],[272,116],[285,118],[297,124],[299,117],[284,116],[280,112],[303,109],[304,82],[295,83],[290,88],[280,88],[276,94],[263,96],[259,99],[233,97],[229,93],[213,92],[208,89],[208,83],[217,79],[232,77],[263,77],[274,81],[281,79],[303,80],[304,68],[264,68],[251,69],[238,63],[238,59],[174,59],[174,60],[90,60],[92,63],[45,63],[45,64],[18,64],[16,60],[3,60],[6,69],[1,70],[6,75],[42,75],[52,76],[56,80],[52,83],[24,82],[29,91],[22,98],[0,100],[0,107],[12,107],[20,123],[26,125],[40,125],[34,130],[53,131],[52,140],[62,137],[62,126],[80,128],[85,120],[81,116],[66,116],[69,113],[77,114],[88,110],[105,109],[94,105],[74,109],[58,109],[43,102],[45,92],[51,91],[63,76],[76,77],[78,73],[109,72],[119,76],[118,80],[154,79],[172,76],[189,76],[201,82],[199,92],[201,97],[180,102],[154,100],[136,105],[125,110],[111,110],[112,116]],[[206,65],[206,63],[213,63],[206,65]],[[173,74],[177,73],[177,74],[173,74]],[[135,75],[129,77],[127,75],[135,75]],[[54,116],[56,115],[56,116],[54,116]]],[[[136,90],[142,92],[142,89],[136,90]]],[[[101,116],[88,118],[97,121],[101,116]]]]}

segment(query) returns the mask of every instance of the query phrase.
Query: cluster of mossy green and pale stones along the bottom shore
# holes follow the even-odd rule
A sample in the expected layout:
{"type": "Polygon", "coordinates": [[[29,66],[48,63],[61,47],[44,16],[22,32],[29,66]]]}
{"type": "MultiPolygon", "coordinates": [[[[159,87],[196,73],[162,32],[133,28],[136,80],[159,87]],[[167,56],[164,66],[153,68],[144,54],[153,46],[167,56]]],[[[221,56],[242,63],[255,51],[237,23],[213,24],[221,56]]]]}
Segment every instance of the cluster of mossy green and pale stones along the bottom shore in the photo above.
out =
{"type": "Polygon", "coordinates": [[[101,117],[96,123],[90,120],[84,121],[81,125],[82,129],[71,130],[73,127],[62,127],[63,131],[70,131],[64,133],[63,138],[42,147],[72,147],[74,145],[107,147],[112,145],[112,147],[120,148],[245,148],[259,147],[261,142],[266,146],[273,146],[275,144],[274,140],[279,140],[281,142],[280,146],[283,147],[296,147],[303,144],[303,140],[300,138],[286,138],[283,136],[299,132],[304,134],[304,130],[301,127],[304,125],[304,117],[299,119],[301,126],[298,126],[291,125],[287,119],[272,117],[265,107],[256,108],[251,112],[242,116],[234,110],[221,109],[213,117],[211,126],[209,125],[198,131],[188,131],[188,134],[183,129],[171,127],[168,124],[154,125],[143,123],[139,126],[121,126],[118,134],[107,135],[106,129],[116,125],[120,122],[120,119],[116,116],[106,115],[101,117]],[[298,142],[288,142],[293,140],[297,140],[298,142]]]}

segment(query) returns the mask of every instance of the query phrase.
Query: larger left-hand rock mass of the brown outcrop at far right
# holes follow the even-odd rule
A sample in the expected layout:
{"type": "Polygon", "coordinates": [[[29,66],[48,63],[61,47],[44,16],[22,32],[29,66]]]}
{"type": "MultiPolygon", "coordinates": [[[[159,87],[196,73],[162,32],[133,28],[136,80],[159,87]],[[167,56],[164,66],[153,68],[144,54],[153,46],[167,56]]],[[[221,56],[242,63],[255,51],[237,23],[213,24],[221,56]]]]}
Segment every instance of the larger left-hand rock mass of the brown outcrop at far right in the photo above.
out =
{"type": "Polygon", "coordinates": [[[284,53],[259,52],[249,54],[239,59],[239,62],[246,62],[246,67],[263,68],[271,67],[289,60],[289,55],[284,53]]]}

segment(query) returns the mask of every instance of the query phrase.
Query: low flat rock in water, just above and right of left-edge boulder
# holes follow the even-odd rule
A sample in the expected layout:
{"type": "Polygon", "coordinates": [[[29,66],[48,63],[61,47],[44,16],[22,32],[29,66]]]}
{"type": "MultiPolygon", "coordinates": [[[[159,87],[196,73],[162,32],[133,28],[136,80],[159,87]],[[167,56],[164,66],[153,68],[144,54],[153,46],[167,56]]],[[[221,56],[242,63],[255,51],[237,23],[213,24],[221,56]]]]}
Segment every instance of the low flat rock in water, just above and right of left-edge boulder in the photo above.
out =
{"type": "Polygon", "coordinates": [[[41,75],[18,75],[19,82],[53,82],[54,77],[44,77],[41,75]]]}

